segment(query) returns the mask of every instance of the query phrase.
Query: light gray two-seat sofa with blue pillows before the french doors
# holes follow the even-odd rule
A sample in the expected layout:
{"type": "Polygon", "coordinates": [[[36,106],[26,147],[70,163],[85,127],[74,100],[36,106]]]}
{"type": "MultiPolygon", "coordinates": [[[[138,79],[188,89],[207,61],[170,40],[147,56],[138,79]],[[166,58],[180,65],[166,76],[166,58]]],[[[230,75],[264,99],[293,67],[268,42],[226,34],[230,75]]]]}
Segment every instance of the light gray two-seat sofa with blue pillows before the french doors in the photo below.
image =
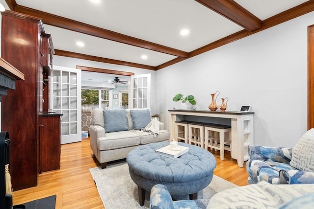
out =
{"type": "Polygon", "coordinates": [[[102,168],[108,162],[125,159],[135,147],[169,140],[169,131],[164,130],[161,122],[156,137],[148,132],[140,132],[150,120],[149,109],[94,109],[89,128],[90,147],[102,168]]]}

